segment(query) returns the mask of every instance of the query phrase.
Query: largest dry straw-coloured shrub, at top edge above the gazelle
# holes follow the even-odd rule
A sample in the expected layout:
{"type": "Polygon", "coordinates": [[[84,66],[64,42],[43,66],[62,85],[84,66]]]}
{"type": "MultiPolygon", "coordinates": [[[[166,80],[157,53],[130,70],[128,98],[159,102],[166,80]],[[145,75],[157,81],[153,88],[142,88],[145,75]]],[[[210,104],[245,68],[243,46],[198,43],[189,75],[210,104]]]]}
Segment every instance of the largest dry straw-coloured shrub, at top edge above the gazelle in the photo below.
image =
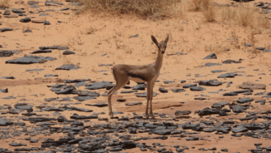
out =
{"type": "Polygon", "coordinates": [[[79,0],[83,10],[101,15],[137,15],[144,19],[163,19],[176,15],[181,0],[79,0]],[[180,3],[178,3],[180,2],[180,3]]]}

